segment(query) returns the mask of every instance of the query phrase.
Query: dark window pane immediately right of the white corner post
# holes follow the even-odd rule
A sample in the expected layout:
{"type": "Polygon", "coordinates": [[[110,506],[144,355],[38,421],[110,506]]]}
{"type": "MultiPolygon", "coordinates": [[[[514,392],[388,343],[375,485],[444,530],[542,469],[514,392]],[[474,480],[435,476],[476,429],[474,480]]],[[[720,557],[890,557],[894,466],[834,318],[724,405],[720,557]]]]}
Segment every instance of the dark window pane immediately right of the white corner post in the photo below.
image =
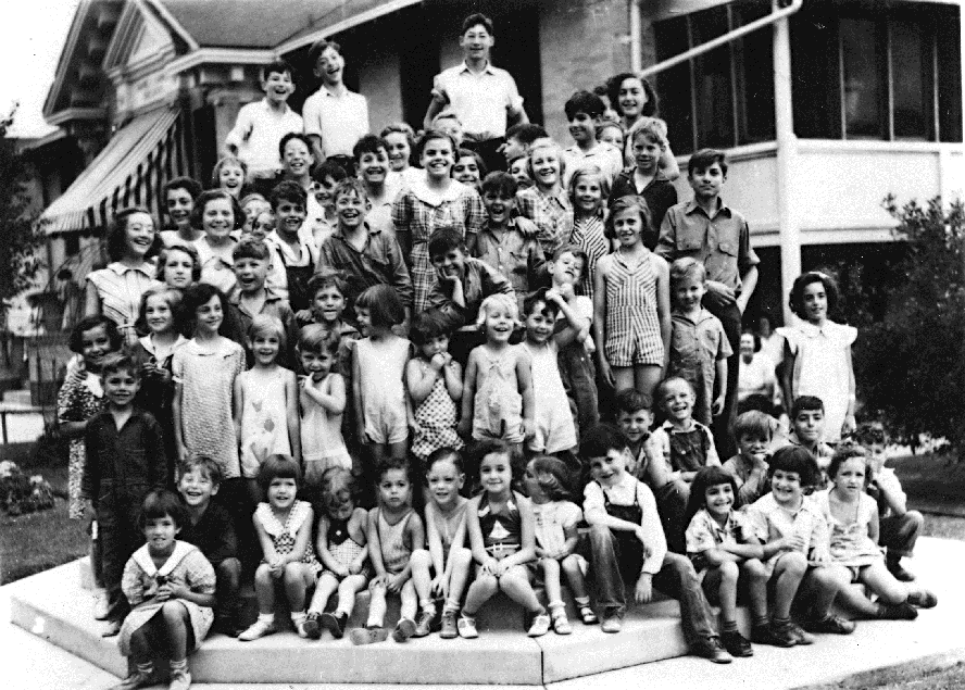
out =
{"type": "Polygon", "coordinates": [[[802,139],[841,138],[841,77],[837,21],[818,12],[791,16],[791,100],[794,134],[802,139]]]}

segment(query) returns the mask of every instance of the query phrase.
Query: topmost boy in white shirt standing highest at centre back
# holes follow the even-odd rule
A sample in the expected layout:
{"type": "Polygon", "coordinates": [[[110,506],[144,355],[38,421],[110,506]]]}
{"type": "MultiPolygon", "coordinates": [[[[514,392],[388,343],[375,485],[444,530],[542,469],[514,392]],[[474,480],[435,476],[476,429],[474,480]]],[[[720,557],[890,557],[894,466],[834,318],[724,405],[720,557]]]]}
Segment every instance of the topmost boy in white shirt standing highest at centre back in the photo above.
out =
{"type": "Polygon", "coordinates": [[[461,65],[436,75],[433,101],[423,123],[428,128],[443,109],[451,109],[464,129],[463,146],[479,153],[490,172],[505,170],[499,148],[506,125],[529,122],[516,81],[489,61],[494,41],[492,20],[485,14],[466,17],[459,39],[465,59],[461,65]]]}

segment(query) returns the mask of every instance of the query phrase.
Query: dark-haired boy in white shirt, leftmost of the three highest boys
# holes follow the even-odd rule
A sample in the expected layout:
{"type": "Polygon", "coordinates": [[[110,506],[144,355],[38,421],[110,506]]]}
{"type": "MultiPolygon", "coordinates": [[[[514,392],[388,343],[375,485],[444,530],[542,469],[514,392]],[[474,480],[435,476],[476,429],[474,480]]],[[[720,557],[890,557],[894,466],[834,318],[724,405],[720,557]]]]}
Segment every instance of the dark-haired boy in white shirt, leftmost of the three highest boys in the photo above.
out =
{"type": "Polygon", "coordinates": [[[225,137],[225,149],[248,165],[249,181],[274,179],[281,170],[278,142],[289,131],[304,127],[301,115],[288,106],[294,91],[291,65],[274,62],[264,68],[261,86],[265,97],[242,105],[235,127],[225,137]]]}

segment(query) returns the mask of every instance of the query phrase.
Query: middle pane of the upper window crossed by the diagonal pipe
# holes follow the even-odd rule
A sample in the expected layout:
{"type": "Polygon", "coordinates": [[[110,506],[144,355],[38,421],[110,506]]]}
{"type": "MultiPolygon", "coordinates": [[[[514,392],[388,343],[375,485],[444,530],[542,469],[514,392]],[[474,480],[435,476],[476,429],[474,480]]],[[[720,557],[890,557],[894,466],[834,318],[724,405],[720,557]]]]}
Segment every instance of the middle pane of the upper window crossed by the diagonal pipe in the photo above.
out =
{"type": "MultiPolygon", "coordinates": [[[[729,29],[727,8],[691,15],[693,45],[699,46],[729,29]]],[[[730,47],[722,46],[694,60],[698,148],[735,145],[734,89],[730,79],[730,47]]]]}

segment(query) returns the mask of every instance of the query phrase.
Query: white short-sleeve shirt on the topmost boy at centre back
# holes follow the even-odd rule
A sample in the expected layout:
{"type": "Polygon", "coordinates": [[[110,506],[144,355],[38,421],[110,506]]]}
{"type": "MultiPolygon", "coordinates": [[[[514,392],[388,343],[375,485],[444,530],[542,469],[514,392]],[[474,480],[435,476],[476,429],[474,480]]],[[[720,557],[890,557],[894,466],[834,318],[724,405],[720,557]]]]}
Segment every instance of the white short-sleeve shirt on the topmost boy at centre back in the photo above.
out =
{"type": "Polygon", "coordinates": [[[443,91],[468,135],[505,136],[506,114],[523,108],[513,76],[488,63],[479,74],[473,74],[465,62],[443,70],[433,80],[433,93],[443,91]]]}

